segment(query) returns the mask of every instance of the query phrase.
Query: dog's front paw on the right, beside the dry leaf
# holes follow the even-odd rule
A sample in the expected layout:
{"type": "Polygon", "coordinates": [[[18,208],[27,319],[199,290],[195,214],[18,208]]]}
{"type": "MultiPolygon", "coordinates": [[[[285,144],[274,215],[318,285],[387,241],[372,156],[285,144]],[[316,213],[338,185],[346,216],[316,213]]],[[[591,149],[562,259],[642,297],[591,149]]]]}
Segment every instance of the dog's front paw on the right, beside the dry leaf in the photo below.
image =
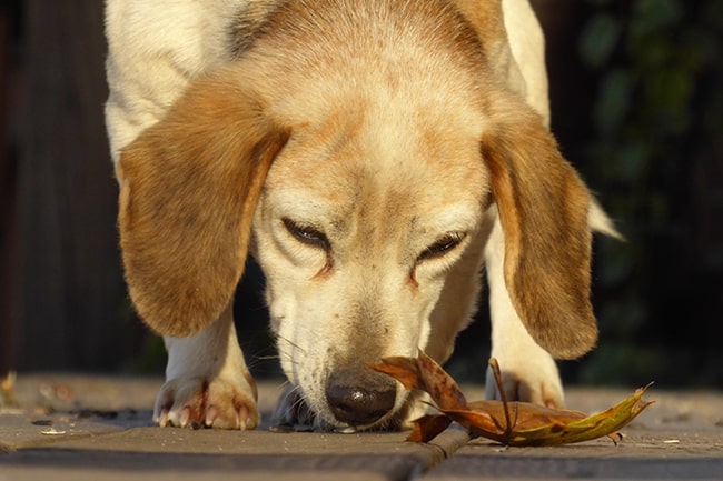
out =
{"type": "MultiPolygon", "coordinates": [[[[502,371],[502,385],[508,401],[526,401],[547,408],[563,408],[563,384],[555,360],[542,349],[515,357],[499,353],[497,359],[502,371]],[[532,354],[532,355],[531,355],[532,354]]],[[[499,389],[492,368],[487,368],[485,381],[487,399],[501,400],[499,389]]]]}

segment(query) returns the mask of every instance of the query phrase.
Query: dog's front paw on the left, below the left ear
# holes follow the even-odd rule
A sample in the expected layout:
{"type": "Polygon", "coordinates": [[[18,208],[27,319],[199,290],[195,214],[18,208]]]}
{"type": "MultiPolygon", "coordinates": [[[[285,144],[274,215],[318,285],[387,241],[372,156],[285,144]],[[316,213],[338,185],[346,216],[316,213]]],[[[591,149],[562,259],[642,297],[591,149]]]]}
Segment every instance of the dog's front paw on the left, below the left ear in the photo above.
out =
{"type": "Polygon", "coordinates": [[[259,423],[252,379],[177,378],[160,389],[153,421],[160,427],[255,429],[259,423]]]}

